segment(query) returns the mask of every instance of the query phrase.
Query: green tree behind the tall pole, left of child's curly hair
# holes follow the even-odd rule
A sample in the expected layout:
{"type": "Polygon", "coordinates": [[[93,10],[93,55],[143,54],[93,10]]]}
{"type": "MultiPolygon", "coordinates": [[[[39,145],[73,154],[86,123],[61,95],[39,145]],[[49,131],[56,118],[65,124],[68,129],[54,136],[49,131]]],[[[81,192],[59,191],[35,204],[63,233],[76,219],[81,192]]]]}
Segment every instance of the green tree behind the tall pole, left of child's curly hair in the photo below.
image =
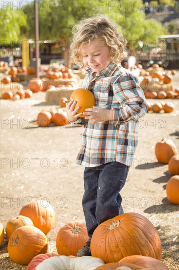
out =
{"type": "MultiPolygon", "coordinates": [[[[39,34],[40,40],[68,40],[72,27],[83,17],[98,13],[98,0],[40,0],[39,34]]],[[[25,10],[27,15],[26,33],[35,37],[34,4],[25,10]]]]}

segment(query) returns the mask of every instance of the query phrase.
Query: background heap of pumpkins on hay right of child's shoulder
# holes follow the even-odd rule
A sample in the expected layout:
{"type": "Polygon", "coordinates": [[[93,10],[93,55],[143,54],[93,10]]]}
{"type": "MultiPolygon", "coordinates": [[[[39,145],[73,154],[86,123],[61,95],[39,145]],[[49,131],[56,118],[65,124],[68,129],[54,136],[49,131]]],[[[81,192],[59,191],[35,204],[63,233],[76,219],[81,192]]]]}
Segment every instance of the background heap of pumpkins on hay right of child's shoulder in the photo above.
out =
{"type": "Polygon", "coordinates": [[[151,99],[179,99],[179,89],[172,84],[172,79],[175,74],[175,70],[165,71],[157,64],[154,64],[146,70],[142,69],[141,66],[138,81],[144,91],[145,97],[151,99]]]}

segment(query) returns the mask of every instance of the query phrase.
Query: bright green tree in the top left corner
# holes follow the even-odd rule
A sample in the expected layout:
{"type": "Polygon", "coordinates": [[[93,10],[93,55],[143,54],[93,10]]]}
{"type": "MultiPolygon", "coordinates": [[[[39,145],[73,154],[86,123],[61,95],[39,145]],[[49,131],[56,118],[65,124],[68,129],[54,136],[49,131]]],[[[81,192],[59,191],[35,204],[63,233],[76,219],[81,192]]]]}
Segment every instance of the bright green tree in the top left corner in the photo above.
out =
{"type": "Polygon", "coordinates": [[[26,26],[26,15],[21,9],[10,6],[0,9],[0,40],[1,42],[17,42],[22,38],[21,27],[26,26]]]}

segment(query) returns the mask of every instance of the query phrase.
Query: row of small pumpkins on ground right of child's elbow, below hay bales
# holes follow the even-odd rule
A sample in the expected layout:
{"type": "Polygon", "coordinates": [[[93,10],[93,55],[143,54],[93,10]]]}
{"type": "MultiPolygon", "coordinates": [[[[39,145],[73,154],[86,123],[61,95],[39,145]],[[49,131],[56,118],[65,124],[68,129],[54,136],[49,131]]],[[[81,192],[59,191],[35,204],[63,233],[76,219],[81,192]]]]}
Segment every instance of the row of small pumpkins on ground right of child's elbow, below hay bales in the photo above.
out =
{"type": "Polygon", "coordinates": [[[175,109],[175,105],[172,102],[165,103],[160,101],[157,103],[147,101],[148,112],[172,112],[175,109]]]}

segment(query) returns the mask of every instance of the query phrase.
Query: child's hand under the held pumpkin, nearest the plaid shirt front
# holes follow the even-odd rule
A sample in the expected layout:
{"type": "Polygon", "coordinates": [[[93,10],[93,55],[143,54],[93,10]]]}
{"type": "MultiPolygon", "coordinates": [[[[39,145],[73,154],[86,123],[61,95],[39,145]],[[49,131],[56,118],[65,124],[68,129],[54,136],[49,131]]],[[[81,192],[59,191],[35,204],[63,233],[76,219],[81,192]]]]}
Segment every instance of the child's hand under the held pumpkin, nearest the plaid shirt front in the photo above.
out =
{"type": "Polygon", "coordinates": [[[86,109],[88,112],[83,112],[85,119],[92,119],[94,123],[105,122],[113,120],[113,111],[112,109],[105,109],[100,107],[93,106],[92,108],[86,109]]]}

